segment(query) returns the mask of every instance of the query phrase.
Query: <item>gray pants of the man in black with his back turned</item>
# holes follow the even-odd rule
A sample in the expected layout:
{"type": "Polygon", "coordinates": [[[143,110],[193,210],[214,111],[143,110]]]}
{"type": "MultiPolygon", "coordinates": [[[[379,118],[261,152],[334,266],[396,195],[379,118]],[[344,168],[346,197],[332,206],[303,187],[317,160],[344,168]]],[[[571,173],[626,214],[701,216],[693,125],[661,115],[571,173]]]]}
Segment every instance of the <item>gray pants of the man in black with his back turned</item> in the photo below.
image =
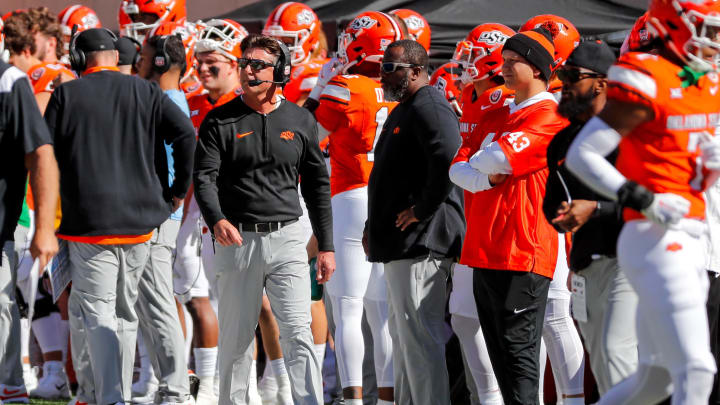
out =
{"type": "Polygon", "coordinates": [[[130,402],[138,323],[135,302],[149,245],[68,242],[68,311],[79,401],[130,402]]]}

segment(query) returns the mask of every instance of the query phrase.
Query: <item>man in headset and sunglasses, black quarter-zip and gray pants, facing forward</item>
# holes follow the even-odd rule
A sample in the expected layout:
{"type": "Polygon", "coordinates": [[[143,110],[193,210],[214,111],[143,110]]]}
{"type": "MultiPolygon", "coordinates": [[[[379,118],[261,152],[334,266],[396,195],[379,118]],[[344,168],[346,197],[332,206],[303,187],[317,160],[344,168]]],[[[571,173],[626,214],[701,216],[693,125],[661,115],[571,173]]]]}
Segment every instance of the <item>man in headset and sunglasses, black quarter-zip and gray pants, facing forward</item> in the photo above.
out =
{"type": "Polygon", "coordinates": [[[318,239],[317,279],[325,283],[335,269],[330,181],[317,122],[278,95],[290,75],[283,47],[267,36],[242,41],[244,93],[210,111],[198,133],[195,196],[216,241],[222,405],[248,402],[263,287],[280,328],[294,403],[322,403],[298,182],[302,176],[318,239]]]}

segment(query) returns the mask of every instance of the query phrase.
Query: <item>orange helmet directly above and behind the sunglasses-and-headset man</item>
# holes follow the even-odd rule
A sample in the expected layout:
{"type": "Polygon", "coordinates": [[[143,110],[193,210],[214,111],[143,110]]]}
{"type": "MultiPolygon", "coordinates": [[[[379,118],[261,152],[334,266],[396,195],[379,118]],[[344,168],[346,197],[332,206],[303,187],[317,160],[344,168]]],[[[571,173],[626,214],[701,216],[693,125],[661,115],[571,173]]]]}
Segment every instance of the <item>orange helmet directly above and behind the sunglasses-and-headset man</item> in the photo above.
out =
{"type": "Polygon", "coordinates": [[[298,65],[309,61],[320,44],[320,19],[305,4],[283,3],[270,13],[262,33],[281,41],[289,38],[292,45],[285,43],[292,53],[292,64],[298,65]]]}

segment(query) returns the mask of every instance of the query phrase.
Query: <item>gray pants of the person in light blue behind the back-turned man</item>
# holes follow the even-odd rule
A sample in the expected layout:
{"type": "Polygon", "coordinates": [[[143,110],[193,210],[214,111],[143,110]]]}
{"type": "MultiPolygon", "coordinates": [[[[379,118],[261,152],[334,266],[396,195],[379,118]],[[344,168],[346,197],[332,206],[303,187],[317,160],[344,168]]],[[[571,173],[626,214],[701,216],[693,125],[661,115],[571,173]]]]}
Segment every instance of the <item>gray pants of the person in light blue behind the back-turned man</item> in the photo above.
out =
{"type": "Polygon", "coordinates": [[[160,381],[159,401],[183,402],[190,394],[185,340],[172,284],[173,251],[179,229],[180,221],[168,219],[155,230],[135,304],[148,357],[160,381]]]}

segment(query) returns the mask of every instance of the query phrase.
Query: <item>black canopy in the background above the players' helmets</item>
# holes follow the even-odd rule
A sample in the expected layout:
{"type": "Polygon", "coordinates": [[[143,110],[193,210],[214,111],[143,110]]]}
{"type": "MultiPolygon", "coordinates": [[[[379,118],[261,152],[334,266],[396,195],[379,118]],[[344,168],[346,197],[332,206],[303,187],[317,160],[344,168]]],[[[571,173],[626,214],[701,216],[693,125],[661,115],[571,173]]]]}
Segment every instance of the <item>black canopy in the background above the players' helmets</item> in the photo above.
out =
{"type": "MultiPolygon", "coordinates": [[[[628,30],[644,11],[633,1],[622,0],[308,0],[304,1],[323,21],[331,49],[337,29],[366,10],[390,11],[409,8],[422,14],[432,29],[431,56],[447,60],[457,41],[476,25],[499,22],[518,29],[530,17],[555,14],[570,20],[583,36],[601,36],[622,41],[619,31],[628,30]],[[628,5],[629,4],[629,5],[628,5]],[[616,35],[607,34],[618,33],[616,35]]],[[[239,21],[251,32],[259,32],[267,16],[282,0],[262,0],[227,13],[222,18],[239,21]]]]}

